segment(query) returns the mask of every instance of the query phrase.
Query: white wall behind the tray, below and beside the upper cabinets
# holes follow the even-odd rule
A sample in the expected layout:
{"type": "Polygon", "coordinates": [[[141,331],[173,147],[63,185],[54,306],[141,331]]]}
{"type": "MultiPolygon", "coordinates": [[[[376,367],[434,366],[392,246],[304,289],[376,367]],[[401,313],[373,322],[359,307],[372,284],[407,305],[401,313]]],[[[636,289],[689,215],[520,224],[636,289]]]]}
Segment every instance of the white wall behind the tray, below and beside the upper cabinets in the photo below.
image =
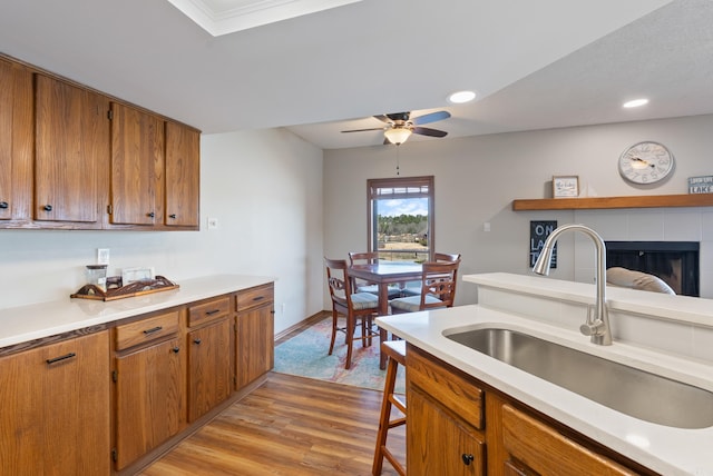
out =
{"type": "Polygon", "coordinates": [[[109,248],[109,274],[274,276],[276,331],[320,311],[322,150],[264,130],[203,136],[201,153],[201,231],[0,230],[0,308],[69,299],[96,248],[109,248]]]}

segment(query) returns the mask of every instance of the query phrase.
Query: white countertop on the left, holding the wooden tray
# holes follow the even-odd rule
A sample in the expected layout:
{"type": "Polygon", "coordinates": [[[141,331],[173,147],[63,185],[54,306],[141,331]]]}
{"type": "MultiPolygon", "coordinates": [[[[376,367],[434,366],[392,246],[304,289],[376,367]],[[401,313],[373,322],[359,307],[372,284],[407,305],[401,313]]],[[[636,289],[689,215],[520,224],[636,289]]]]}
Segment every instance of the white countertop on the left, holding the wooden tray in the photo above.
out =
{"type": "Polygon", "coordinates": [[[180,306],[274,281],[273,277],[222,275],[177,281],[178,289],[108,303],[67,299],[0,309],[0,348],[154,310],[180,306]]]}

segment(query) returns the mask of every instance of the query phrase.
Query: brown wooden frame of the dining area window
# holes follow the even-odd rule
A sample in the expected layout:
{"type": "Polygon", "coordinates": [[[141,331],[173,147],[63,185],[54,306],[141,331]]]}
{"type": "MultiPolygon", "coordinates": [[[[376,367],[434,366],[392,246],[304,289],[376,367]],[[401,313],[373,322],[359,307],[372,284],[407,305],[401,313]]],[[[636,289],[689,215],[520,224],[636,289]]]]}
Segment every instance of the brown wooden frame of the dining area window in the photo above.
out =
{"type": "MultiPolygon", "coordinates": [[[[433,260],[433,254],[436,252],[436,190],[434,190],[434,177],[421,176],[421,177],[393,177],[382,179],[367,179],[367,242],[369,251],[379,251],[378,242],[374,242],[373,232],[377,229],[377,216],[374,215],[374,199],[387,198],[383,195],[378,195],[377,190],[380,188],[407,188],[407,187],[423,187],[428,188],[426,194],[414,194],[412,197],[403,198],[417,198],[418,195],[428,198],[428,256],[429,260],[433,260]],[[377,249],[374,249],[374,245],[377,249]]],[[[410,194],[409,194],[410,195],[410,194]]],[[[397,197],[399,198],[399,197],[397,197]]]]}

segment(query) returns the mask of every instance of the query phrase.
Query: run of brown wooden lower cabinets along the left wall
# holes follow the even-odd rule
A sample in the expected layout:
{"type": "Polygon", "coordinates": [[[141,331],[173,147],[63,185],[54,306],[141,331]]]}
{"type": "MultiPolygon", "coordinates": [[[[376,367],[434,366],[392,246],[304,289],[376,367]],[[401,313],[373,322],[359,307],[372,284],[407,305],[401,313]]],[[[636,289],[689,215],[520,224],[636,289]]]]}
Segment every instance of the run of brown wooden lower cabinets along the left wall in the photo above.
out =
{"type": "Polygon", "coordinates": [[[0,349],[0,476],[139,473],[264,381],[273,301],[270,284],[0,349]]]}

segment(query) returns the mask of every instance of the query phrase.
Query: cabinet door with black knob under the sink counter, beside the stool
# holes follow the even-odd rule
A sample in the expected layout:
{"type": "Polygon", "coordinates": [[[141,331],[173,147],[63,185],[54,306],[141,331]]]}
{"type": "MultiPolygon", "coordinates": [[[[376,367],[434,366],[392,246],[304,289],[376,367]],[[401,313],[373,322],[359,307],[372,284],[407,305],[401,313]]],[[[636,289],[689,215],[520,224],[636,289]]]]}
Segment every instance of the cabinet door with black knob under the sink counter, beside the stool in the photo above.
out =
{"type": "Polygon", "coordinates": [[[485,444],[475,429],[422,394],[407,393],[407,468],[416,475],[485,475],[485,444]]]}

